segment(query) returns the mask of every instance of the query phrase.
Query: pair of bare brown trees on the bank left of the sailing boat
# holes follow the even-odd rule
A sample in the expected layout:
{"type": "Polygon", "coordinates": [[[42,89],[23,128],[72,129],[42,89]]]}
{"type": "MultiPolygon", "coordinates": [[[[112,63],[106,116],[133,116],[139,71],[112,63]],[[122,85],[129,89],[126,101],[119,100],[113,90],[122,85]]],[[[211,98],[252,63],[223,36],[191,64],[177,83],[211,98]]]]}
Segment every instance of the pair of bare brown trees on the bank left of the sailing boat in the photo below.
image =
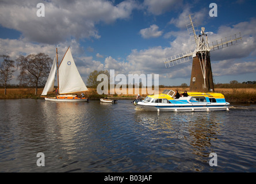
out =
{"type": "Polygon", "coordinates": [[[21,86],[35,87],[35,95],[40,85],[45,85],[52,59],[45,53],[20,55],[16,60],[11,60],[8,55],[0,55],[0,83],[5,88],[13,79],[13,73],[19,69],[17,81],[21,86]]]}

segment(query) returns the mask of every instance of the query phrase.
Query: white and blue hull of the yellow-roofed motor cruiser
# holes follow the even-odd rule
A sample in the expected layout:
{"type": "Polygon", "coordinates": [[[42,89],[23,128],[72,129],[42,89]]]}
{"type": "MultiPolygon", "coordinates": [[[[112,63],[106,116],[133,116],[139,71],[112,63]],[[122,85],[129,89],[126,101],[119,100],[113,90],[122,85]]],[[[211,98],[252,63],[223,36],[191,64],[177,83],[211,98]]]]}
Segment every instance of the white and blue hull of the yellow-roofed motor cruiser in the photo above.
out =
{"type": "Polygon", "coordinates": [[[213,111],[213,110],[229,110],[230,104],[228,102],[221,104],[183,104],[183,105],[152,105],[143,102],[138,102],[135,110],[146,110],[146,111],[158,111],[158,112],[202,112],[202,111],[213,111]]]}

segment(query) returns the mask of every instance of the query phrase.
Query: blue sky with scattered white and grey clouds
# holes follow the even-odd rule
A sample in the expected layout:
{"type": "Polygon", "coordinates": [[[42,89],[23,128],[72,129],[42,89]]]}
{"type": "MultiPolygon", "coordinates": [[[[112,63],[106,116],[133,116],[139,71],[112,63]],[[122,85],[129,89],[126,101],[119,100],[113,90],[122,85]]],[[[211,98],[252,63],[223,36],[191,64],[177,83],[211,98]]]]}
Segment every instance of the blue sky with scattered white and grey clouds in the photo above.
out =
{"type": "MultiPolygon", "coordinates": [[[[44,52],[62,59],[70,46],[83,81],[94,70],[159,75],[159,85],[189,85],[192,61],[166,68],[163,60],[194,51],[186,18],[193,14],[208,40],[241,33],[242,42],[211,51],[215,83],[256,81],[256,1],[0,0],[0,55],[44,52]],[[44,17],[37,16],[42,13],[44,17]],[[217,17],[209,11],[217,5],[217,17]],[[39,11],[40,10],[40,11],[39,11]]],[[[18,71],[10,83],[17,83],[18,71]]],[[[154,78],[154,77],[153,77],[154,78]]]]}

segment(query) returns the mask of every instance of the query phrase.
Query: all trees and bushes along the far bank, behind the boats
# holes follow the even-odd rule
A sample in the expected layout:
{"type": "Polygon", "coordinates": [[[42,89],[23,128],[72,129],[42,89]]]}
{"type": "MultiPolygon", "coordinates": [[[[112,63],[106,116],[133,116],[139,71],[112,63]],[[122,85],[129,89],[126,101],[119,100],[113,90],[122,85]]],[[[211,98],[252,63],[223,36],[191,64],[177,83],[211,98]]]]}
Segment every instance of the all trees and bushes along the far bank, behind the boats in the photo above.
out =
{"type": "MultiPolygon", "coordinates": [[[[18,75],[17,81],[20,86],[35,87],[35,95],[37,89],[45,85],[48,74],[51,70],[52,59],[45,53],[30,54],[28,56],[20,55],[16,60],[11,60],[8,55],[0,55],[0,85],[6,88],[9,85],[9,81],[13,79],[13,73],[19,69],[20,74],[18,75]]],[[[101,81],[97,81],[97,76],[100,74],[106,74],[109,77],[107,70],[97,71],[94,70],[90,73],[87,78],[87,85],[91,88],[97,88],[101,81]]],[[[239,88],[239,87],[256,87],[256,81],[247,81],[239,83],[238,81],[230,81],[229,84],[217,83],[215,87],[219,88],[239,88]]],[[[140,82],[139,87],[143,87],[140,82]]],[[[159,85],[163,87],[174,87],[159,85]]],[[[175,86],[177,87],[177,86],[175,86]]],[[[186,83],[182,83],[179,87],[189,87],[186,83]]]]}

